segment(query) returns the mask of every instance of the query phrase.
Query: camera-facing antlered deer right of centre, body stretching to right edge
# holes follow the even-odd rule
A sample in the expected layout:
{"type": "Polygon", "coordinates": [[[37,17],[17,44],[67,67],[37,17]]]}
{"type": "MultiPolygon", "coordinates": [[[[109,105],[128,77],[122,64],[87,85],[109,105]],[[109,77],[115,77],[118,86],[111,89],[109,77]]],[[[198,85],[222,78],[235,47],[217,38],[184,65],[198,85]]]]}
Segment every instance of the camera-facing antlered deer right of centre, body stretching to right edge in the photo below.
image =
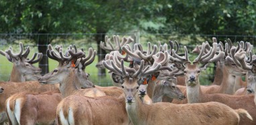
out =
{"type": "MultiPolygon", "coordinates": [[[[216,45],[217,43],[213,43],[212,45],[216,45]]],[[[243,108],[251,114],[252,118],[256,118],[256,107],[254,102],[252,101],[254,98],[253,95],[249,96],[233,96],[228,94],[204,94],[202,92],[202,89],[200,88],[200,82],[199,82],[199,75],[202,70],[204,70],[208,63],[212,61],[218,61],[221,59],[225,53],[222,51],[219,51],[218,55],[215,55],[215,52],[212,53],[212,56],[202,56],[202,53],[204,51],[204,45],[205,43],[202,43],[202,49],[200,51],[200,54],[194,61],[189,61],[188,54],[186,54],[186,57],[180,57],[174,52],[174,58],[172,60],[175,61],[174,64],[180,70],[183,70],[184,75],[186,76],[186,94],[188,98],[188,103],[194,104],[194,103],[205,103],[205,102],[220,102],[222,104],[226,104],[227,106],[230,106],[233,109],[239,109],[243,108]],[[200,66],[202,64],[202,66],[200,66]]],[[[186,53],[186,47],[184,47],[186,53]]],[[[235,52],[236,48],[231,48],[231,55],[235,52]]],[[[232,58],[231,58],[232,59],[232,58]]],[[[236,61],[233,59],[233,61],[236,61]]],[[[252,118],[247,116],[247,118],[241,118],[241,121],[239,124],[255,124],[255,122],[252,121],[252,118]]]]}

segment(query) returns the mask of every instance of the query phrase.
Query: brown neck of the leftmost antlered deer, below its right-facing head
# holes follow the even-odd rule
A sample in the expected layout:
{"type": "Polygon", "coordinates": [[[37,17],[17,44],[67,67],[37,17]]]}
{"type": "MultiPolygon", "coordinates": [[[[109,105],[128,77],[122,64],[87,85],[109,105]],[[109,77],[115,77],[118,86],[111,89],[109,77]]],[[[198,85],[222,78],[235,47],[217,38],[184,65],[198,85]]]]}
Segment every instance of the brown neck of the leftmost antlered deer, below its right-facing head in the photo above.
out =
{"type": "Polygon", "coordinates": [[[13,70],[11,70],[11,77],[9,82],[25,82],[24,76],[16,70],[15,66],[13,65],[13,70]]]}

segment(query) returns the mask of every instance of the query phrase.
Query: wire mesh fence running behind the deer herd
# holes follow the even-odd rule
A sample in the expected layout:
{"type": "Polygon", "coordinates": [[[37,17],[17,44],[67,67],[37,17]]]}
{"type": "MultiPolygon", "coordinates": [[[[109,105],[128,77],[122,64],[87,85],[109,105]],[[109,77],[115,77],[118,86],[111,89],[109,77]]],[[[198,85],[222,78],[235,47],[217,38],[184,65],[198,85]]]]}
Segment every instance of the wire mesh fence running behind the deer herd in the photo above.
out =
{"type": "MultiPolygon", "coordinates": [[[[212,37],[216,37],[217,41],[225,41],[228,38],[235,42],[237,41],[248,41],[251,44],[255,45],[255,35],[183,35],[183,34],[149,34],[149,33],[108,33],[109,37],[113,35],[119,35],[120,37],[127,37],[132,36],[135,39],[135,42],[141,43],[143,49],[147,49],[147,42],[151,44],[158,44],[160,43],[169,43],[170,40],[178,41],[180,43],[180,51],[179,53],[183,52],[183,46],[186,45],[188,48],[188,52],[190,54],[190,60],[193,59],[195,54],[192,53],[192,49],[196,47],[196,45],[200,45],[204,41],[208,41],[212,43],[212,37]]],[[[22,42],[23,45],[29,46],[31,52],[29,56],[33,55],[35,52],[38,52],[38,47],[40,46],[47,46],[48,44],[52,44],[54,47],[55,45],[63,45],[66,49],[69,45],[76,45],[78,48],[84,49],[87,53],[89,47],[93,49],[98,49],[99,44],[97,43],[97,37],[100,38],[101,41],[105,41],[104,37],[105,34],[101,33],[48,33],[48,34],[15,34],[15,33],[2,33],[0,34],[0,50],[5,51],[9,48],[9,46],[13,47],[14,52],[19,51],[19,42],[22,42]],[[41,43],[40,43],[41,42],[41,43]],[[42,43],[43,42],[43,43],[42,43]]],[[[134,43],[131,43],[134,44],[134,43]]],[[[174,46],[175,47],[175,46],[174,46]]],[[[100,55],[102,51],[98,51],[97,55],[100,55]]],[[[47,57],[47,55],[44,55],[47,57]]],[[[90,80],[97,85],[100,86],[112,86],[112,81],[107,74],[107,72],[103,74],[99,74],[99,70],[95,67],[99,58],[96,57],[90,66],[86,67],[86,72],[90,74],[90,80]]],[[[9,62],[6,57],[0,55],[0,81],[7,81],[9,80],[12,63],[9,62]]],[[[38,64],[36,64],[38,66],[38,64]]],[[[46,65],[47,66],[47,65],[46,65]]],[[[49,71],[54,70],[58,66],[58,62],[52,59],[49,59],[49,71]]],[[[43,74],[46,74],[44,72],[43,74]]],[[[200,76],[200,81],[202,83],[210,84],[214,79],[214,65],[211,64],[205,72],[203,72],[200,76]]]]}

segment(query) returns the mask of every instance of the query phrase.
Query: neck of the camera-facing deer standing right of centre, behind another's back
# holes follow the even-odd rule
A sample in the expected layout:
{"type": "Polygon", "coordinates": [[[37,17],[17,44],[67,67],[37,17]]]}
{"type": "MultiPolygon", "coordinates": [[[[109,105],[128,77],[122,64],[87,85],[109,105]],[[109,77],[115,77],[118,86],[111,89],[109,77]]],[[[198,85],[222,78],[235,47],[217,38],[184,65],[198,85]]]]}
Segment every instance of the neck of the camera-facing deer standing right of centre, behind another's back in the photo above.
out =
{"type": "MultiPolygon", "coordinates": [[[[188,82],[188,81],[186,81],[188,82]]],[[[200,103],[202,98],[202,90],[200,88],[199,78],[196,80],[196,84],[189,86],[186,83],[186,93],[188,98],[188,103],[200,103]]]]}

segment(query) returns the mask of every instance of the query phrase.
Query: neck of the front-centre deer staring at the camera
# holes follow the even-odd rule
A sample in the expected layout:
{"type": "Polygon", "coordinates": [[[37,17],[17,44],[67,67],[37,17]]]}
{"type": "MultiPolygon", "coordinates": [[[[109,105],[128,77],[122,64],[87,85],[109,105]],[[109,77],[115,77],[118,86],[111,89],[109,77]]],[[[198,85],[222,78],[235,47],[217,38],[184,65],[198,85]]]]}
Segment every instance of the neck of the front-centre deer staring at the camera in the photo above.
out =
{"type": "Polygon", "coordinates": [[[143,117],[147,116],[147,112],[148,112],[148,110],[146,109],[147,106],[150,106],[150,105],[143,104],[141,102],[141,98],[138,93],[135,96],[134,103],[132,104],[126,103],[127,113],[129,115],[131,122],[133,122],[134,125],[143,124],[143,122],[145,122],[143,121],[145,120],[145,118],[143,117]]]}

